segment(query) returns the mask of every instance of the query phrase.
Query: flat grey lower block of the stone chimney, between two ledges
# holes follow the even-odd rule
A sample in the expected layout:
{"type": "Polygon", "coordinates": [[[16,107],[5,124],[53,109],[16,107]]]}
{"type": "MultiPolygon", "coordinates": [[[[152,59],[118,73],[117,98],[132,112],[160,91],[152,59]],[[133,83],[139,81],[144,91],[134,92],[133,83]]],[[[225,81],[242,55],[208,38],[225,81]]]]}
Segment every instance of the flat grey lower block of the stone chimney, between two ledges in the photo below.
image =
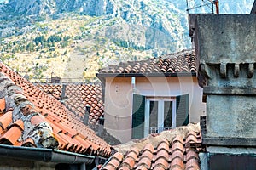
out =
{"type": "Polygon", "coordinates": [[[207,96],[207,136],[256,137],[255,97],[207,96]]]}

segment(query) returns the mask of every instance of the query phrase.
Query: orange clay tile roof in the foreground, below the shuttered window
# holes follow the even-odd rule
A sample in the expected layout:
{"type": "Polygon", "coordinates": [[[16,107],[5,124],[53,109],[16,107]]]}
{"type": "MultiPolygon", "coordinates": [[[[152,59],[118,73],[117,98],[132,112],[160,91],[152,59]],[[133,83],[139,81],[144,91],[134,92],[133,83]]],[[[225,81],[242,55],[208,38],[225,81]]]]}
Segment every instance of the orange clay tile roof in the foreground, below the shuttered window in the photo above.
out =
{"type": "MultiPolygon", "coordinates": [[[[124,145],[126,150],[125,158],[119,159],[118,169],[199,169],[199,156],[196,148],[190,148],[189,145],[185,144],[185,138],[189,135],[196,134],[197,137],[201,137],[201,133],[197,133],[194,130],[195,125],[189,124],[184,132],[185,135],[177,133],[177,131],[166,131],[158,135],[151,136],[146,139],[135,140],[135,144],[124,145]],[[163,135],[166,133],[174,133],[175,138],[169,141],[163,135]],[[144,145],[144,147],[143,147],[144,145]],[[141,148],[138,152],[137,148],[141,148]]],[[[122,147],[120,147],[122,148],[122,147]]],[[[119,153],[119,152],[117,152],[119,153]]],[[[117,154],[116,153],[116,154],[117,154]]],[[[107,163],[107,169],[109,164],[107,163]]]]}

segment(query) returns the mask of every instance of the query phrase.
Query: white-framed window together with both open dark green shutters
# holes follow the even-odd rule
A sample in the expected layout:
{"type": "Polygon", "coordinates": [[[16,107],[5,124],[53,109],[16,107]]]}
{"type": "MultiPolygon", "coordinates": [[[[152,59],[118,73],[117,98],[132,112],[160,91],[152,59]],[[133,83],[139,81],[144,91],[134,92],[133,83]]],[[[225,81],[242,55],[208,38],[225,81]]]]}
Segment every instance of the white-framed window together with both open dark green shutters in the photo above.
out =
{"type": "Polygon", "coordinates": [[[189,123],[189,94],[176,97],[145,97],[133,94],[132,138],[160,133],[189,123]]]}

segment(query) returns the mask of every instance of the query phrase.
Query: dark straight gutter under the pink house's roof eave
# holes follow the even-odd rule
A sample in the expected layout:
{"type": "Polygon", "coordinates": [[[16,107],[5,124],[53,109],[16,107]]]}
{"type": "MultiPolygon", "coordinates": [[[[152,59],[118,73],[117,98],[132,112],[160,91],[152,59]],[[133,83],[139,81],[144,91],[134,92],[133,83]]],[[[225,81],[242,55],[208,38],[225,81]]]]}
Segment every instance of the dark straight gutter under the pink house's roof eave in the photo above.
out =
{"type": "Polygon", "coordinates": [[[104,77],[196,77],[196,72],[149,72],[149,73],[96,73],[101,81],[104,77]]]}

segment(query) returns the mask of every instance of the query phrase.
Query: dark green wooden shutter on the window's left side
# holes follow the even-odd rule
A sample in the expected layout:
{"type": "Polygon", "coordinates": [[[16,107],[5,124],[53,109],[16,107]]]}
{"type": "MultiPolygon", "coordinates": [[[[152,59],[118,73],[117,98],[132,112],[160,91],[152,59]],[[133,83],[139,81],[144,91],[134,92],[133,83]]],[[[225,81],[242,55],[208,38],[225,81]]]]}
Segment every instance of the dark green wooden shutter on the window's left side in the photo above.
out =
{"type": "Polygon", "coordinates": [[[144,137],[145,96],[133,94],[131,138],[144,137]]]}

